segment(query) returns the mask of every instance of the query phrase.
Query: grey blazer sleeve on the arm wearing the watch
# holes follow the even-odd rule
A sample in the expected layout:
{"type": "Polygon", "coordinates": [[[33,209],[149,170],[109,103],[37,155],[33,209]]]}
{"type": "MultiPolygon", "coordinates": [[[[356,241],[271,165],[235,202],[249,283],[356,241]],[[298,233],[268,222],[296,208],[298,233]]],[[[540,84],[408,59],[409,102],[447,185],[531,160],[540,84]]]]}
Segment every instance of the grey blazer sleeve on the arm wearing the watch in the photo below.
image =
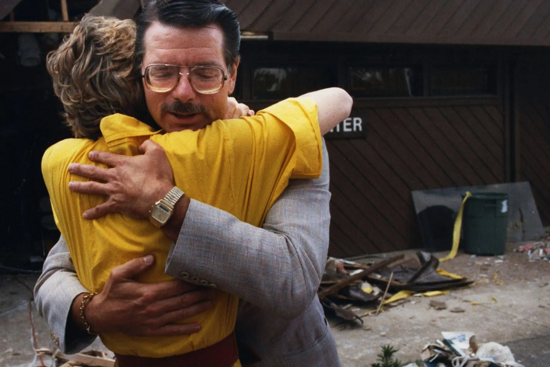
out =
{"type": "Polygon", "coordinates": [[[309,306],[321,282],[330,223],[328,154],[318,179],[291,180],[263,228],[191,200],[166,273],[199,278],[280,317],[309,306]]]}

